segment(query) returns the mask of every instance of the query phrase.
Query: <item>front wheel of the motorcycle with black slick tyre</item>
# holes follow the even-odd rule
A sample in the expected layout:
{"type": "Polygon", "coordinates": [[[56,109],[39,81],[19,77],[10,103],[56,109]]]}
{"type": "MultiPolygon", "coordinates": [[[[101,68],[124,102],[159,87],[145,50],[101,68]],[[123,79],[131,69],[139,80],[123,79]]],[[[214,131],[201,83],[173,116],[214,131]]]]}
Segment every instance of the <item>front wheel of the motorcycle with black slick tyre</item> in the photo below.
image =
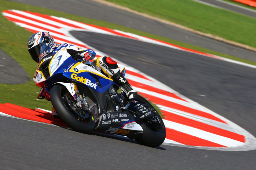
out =
{"type": "Polygon", "coordinates": [[[75,99],[63,85],[56,84],[50,90],[53,107],[60,118],[74,131],[89,133],[94,130],[95,122],[91,113],[88,118],[81,117],[81,109],[75,105],[75,99]]]}

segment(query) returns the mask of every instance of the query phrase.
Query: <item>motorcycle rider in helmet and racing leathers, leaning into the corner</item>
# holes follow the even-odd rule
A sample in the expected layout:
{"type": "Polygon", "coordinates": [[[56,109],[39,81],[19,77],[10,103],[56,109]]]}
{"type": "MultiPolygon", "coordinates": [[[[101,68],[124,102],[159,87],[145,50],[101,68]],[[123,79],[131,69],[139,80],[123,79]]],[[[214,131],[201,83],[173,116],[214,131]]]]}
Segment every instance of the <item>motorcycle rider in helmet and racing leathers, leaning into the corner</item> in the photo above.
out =
{"type": "MultiPolygon", "coordinates": [[[[32,59],[38,63],[38,68],[45,61],[47,58],[46,56],[49,56],[49,54],[51,54],[59,46],[65,46],[71,56],[82,56],[85,64],[91,64],[89,60],[94,59],[96,56],[95,51],[91,49],[85,49],[67,43],[56,44],[49,32],[37,32],[33,34],[28,40],[28,51],[32,59]]],[[[111,57],[107,56],[98,57],[93,62],[107,77],[111,78],[114,83],[120,86],[129,100],[136,98],[137,92],[131,87],[127,79],[124,77],[123,73],[117,66],[117,62],[115,62],[111,57]]],[[[44,89],[41,88],[40,94],[46,97],[46,91],[43,90],[44,89]]],[[[47,100],[49,100],[49,97],[47,100]]]]}

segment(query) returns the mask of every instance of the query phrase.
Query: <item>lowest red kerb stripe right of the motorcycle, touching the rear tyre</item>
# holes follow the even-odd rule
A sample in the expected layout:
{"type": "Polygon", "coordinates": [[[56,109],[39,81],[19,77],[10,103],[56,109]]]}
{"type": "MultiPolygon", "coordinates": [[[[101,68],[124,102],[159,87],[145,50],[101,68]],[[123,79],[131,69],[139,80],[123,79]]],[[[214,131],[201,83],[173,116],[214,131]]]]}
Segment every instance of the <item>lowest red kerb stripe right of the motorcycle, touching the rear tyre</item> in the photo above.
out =
{"type": "Polygon", "coordinates": [[[200,146],[200,147],[226,147],[219,145],[218,143],[211,142],[209,140],[204,140],[196,136],[188,135],[183,132],[176,131],[174,129],[166,128],[166,138],[174,140],[176,142],[182,143],[184,145],[190,146],[200,146]]]}

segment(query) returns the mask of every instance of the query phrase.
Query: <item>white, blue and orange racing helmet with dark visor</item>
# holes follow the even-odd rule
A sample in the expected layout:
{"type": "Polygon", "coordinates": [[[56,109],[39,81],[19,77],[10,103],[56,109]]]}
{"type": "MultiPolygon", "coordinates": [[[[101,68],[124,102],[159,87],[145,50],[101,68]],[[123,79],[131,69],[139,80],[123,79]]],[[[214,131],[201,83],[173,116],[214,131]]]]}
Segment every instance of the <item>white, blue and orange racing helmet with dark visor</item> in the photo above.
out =
{"type": "Polygon", "coordinates": [[[28,52],[37,63],[56,46],[49,32],[37,32],[28,39],[28,52]]]}

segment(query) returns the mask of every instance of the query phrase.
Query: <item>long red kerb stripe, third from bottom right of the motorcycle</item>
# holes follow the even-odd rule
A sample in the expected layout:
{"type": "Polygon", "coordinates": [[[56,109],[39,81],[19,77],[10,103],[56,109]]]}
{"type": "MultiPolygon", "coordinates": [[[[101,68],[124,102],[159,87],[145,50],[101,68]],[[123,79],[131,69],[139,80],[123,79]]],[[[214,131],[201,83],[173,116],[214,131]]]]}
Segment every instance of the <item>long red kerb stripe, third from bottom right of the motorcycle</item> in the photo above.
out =
{"type": "Polygon", "coordinates": [[[181,104],[170,102],[170,101],[167,101],[165,99],[158,98],[158,97],[155,97],[155,96],[151,96],[151,95],[148,95],[148,94],[145,94],[145,93],[142,93],[142,92],[139,92],[139,94],[141,94],[145,98],[148,98],[148,100],[152,101],[155,104],[159,104],[159,105],[162,105],[162,106],[174,108],[174,109],[177,109],[179,111],[184,111],[184,112],[191,113],[191,114],[194,114],[194,115],[202,116],[202,117],[205,117],[205,118],[208,118],[208,119],[216,120],[218,122],[226,123],[225,121],[223,121],[223,120],[221,120],[221,119],[219,119],[219,118],[217,118],[217,117],[215,117],[215,116],[213,116],[209,113],[198,111],[197,109],[193,109],[193,108],[190,108],[190,107],[187,107],[187,106],[183,106],[181,104]]]}

